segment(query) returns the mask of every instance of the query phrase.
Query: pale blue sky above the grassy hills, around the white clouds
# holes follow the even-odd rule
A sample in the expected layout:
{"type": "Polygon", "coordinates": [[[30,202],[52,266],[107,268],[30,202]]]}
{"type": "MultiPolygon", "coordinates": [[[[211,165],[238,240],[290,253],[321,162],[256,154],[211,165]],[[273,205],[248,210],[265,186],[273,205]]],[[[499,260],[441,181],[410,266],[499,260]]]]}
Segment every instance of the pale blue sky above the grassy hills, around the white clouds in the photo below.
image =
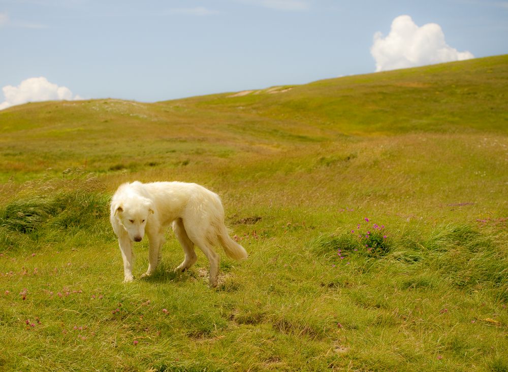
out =
{"type": "Polygon", "coordinates": [[[0,102],[39,77],[66,99],[141,102],[302,84],[432,63],[441,39],[447,55],[508,53],[508,1],[0,0],[0,102]],[[388,37],[402,15],[403,42],[388,37]]]}

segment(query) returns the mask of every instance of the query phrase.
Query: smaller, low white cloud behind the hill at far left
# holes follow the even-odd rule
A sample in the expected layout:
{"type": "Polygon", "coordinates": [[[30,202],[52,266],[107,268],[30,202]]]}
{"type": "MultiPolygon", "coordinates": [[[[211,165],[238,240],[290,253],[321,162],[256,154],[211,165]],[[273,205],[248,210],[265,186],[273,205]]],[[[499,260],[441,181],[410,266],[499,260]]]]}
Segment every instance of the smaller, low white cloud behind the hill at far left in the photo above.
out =
{"type": "Polygon", "coordinates": [[[0,103],[0,110],[27,102],[82,99],[73,95],[69,88],[50,83],[44,77],[23,80],[17,87],[6,85],[2,90],[5,100],[0,103]]]}

